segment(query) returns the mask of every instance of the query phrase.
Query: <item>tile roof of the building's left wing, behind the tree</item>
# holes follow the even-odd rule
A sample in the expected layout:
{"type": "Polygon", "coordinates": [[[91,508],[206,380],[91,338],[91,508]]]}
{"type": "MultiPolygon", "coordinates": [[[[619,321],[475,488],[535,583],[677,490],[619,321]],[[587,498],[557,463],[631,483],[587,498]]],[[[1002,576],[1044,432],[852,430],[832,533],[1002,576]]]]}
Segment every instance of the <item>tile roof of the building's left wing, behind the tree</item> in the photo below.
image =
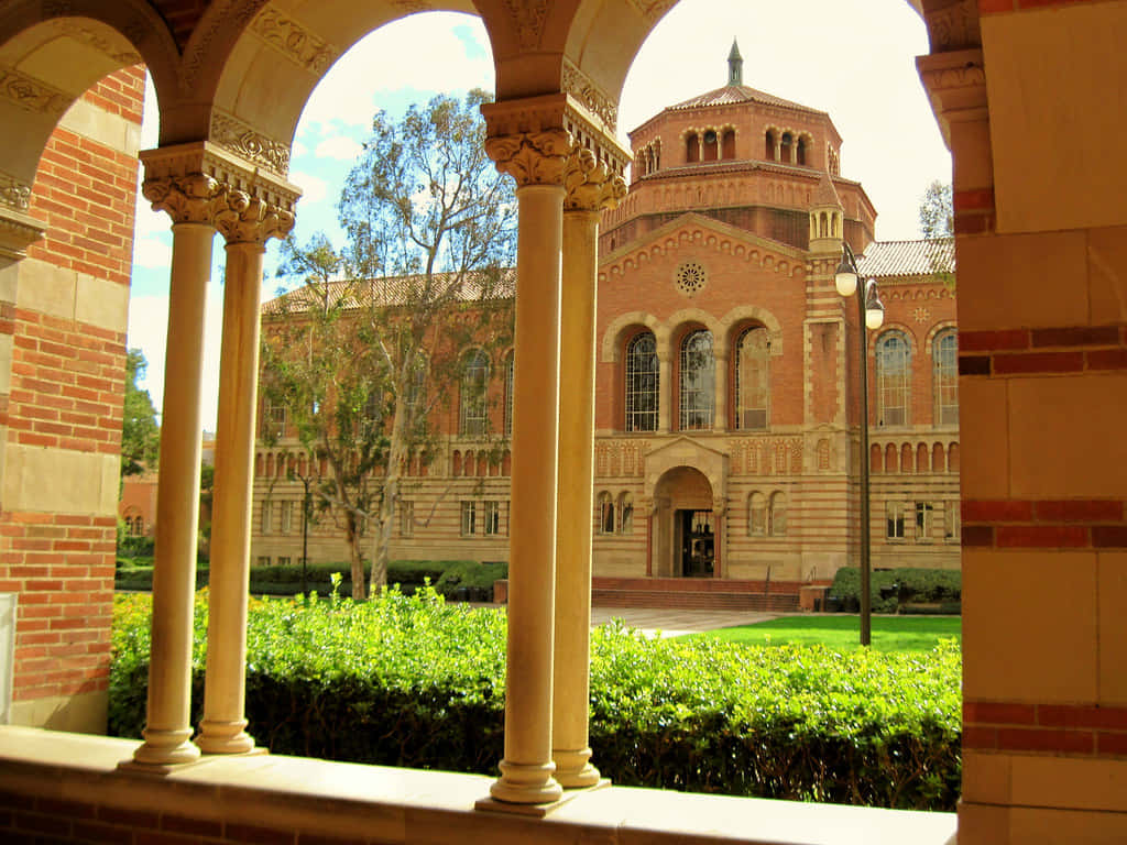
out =
{"type": "MultiPolygon", "coordinates": [[[[365,305],[409,305],[419,299],[419,285],[424,276],[385,276],[367,281],[329,282],[329,297],[334,304],[345,299],[345,308],[362,308],[365,305]]],[[[458,302],[478,302],[481,300],[503,300],[516,293],[516,270],[505,270],[497,282],[487,281],[485,274],[467,274],[459,283],[453,273],[436,273],[432,283],[443,288],[450,287],[453,299],[458,302]]],[[[284,314],[301,311],[321,300],[322,288],[314,285],[302,285],[293,291],[279,294],[263,303],[263,314],[284,314]]],[[[444,294],[443,294],[444,295],[444,294]]]]}

